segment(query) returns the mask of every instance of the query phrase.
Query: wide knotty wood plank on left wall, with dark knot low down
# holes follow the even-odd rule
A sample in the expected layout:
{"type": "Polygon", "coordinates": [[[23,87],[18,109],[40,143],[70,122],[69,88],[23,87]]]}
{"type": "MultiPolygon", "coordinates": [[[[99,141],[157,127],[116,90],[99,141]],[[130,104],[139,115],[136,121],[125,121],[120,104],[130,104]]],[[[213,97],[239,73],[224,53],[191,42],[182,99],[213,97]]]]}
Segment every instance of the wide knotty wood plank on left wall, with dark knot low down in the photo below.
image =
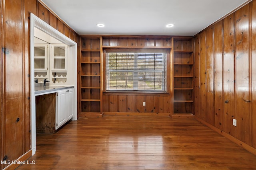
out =
{"type": "Polygon", "coordinates": [[[23,39],[21,1],[5,1],[6,116],[5,155],[16,160],[23,154],[23,39]],[[15,12],[13,12],[15,11],[15,12]],[[17,12],[16,12],[17,11],[17,12]],[[15,41],[14,41],[15,39],[15,41]]]}

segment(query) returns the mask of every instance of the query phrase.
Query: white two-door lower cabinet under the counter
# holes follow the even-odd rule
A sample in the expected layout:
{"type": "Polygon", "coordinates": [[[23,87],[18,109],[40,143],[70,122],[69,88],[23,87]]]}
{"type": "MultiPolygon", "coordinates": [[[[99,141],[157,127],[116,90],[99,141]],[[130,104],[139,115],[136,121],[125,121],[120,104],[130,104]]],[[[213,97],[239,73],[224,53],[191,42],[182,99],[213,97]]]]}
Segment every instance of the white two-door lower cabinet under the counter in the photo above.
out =
{"type": "Polygon", "coordinates": [[[74,88],[61,90],[57,95],[55,129],[58,129],[74,116],[74,88]]]}

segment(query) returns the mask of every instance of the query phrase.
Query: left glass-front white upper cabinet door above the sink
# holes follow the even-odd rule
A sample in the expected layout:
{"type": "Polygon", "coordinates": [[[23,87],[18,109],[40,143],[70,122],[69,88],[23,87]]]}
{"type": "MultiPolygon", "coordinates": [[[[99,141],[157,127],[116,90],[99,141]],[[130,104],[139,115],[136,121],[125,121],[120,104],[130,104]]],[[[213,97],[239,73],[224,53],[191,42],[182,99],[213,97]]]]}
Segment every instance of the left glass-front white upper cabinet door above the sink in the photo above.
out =
{"type": "Polygon", "coordinates": [[[34,45],[34,68],[37,72],[47,72],[48,70],[48,44],[34,45]]]}

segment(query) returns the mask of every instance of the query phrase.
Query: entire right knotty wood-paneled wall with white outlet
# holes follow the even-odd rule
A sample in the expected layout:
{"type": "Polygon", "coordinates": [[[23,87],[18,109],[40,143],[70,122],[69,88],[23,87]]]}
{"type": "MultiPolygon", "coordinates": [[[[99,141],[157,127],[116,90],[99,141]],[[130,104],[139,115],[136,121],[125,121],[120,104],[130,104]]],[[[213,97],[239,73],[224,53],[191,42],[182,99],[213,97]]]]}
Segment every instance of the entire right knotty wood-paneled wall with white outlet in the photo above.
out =
{"type": "Polygon", "coordinates": [[[256,149],[255,23],[253,0],[195,36],[194,108],[199,119],[256,149]]]}

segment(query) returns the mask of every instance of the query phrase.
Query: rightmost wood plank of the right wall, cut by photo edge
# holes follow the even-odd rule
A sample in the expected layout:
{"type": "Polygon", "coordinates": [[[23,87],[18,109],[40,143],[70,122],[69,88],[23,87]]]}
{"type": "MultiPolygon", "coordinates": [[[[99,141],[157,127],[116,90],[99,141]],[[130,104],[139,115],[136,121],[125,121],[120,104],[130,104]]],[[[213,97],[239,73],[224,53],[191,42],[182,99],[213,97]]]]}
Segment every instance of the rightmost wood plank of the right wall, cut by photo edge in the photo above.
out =
{"type": "Polygon", "coordinates": [[[256,1],[252,1],[252,147],[256,148],[256,1]]]}

